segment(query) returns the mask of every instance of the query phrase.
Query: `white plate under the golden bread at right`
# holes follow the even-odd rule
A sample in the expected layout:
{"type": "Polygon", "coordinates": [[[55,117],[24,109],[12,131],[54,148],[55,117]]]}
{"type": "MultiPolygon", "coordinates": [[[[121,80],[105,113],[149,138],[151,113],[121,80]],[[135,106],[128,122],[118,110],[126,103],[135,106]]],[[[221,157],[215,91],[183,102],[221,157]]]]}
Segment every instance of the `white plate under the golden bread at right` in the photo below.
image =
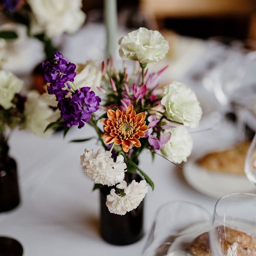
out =
{"type": "Polygon", "coordinates": [[[199,166],[195,159],[190,159],[182,169],[192,188],[214,199],[236,192],[256,192],[256,186],[246,176],[210,172],[199,166]]]}

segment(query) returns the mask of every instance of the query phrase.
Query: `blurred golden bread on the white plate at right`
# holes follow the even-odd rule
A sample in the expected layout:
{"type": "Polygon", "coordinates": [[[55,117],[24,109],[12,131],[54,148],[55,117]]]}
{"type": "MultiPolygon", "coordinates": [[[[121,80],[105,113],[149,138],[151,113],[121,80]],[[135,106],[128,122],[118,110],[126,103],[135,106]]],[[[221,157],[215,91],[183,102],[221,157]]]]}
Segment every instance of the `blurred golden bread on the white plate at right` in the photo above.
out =
{"type": "Polygon", "coordinates": [[[244,161],[250,143],[243,141],[225,150],[210,152],[198,159],[197,163],[212,172],[245,175],[244,161]]]}

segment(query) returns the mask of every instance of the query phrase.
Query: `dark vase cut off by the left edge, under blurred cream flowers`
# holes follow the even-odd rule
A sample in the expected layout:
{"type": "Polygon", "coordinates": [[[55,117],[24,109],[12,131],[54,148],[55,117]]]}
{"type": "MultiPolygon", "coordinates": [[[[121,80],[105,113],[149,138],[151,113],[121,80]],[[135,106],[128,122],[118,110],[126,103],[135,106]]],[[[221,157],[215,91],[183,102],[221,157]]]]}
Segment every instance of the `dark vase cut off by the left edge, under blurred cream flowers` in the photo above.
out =
{"type": "Polygon", "coordinates": [[[8,145],[0,143],[0,212],[12,210],[20,203],[17,164],[8,152],[8,145]]]}

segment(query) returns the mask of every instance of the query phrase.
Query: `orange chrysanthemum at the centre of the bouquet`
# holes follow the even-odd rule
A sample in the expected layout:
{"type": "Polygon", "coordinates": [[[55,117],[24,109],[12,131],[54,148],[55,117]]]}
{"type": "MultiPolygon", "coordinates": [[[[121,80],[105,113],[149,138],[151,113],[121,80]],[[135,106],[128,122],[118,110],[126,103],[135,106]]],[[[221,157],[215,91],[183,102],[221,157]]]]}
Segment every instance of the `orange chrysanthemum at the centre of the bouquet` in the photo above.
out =
{"type": "Polygon", "coordinates": [[[139,148],[140,137],[145,135],[145,131],[148,130],[148,125],[145,125],[145,113],[138,113],[133,109],[133,106],[129,106],[125,111],[108,110],[108,120],[102,120],[105,133],[101,138],[106,138],[105,143],[115,143],[116,145],[122,144],[122,148],[125,152],[129,151],[129,148],[134,145],[139,148]]]}

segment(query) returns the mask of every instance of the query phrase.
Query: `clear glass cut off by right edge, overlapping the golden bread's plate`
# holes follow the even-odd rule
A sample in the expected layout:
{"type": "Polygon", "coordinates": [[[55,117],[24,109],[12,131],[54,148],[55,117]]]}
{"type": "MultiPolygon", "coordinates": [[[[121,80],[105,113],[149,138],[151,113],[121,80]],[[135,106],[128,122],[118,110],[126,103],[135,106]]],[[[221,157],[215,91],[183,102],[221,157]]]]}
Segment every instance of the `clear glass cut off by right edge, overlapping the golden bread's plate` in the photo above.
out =
{"type": "Polygon", "coordinates": [[[256,184],[256,134],[245,157],[244,172],[253,184],[256,184]]]}

